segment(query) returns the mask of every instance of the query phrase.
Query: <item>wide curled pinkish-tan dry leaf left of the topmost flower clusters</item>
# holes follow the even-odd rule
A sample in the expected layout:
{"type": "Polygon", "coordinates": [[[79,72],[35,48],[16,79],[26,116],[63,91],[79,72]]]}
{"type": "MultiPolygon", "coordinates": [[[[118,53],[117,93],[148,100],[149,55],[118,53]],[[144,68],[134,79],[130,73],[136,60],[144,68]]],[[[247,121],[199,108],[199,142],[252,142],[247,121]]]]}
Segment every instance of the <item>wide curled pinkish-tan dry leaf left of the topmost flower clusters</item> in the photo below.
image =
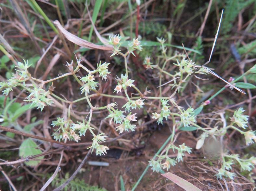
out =
{"type": "Polygon", "coordinates": [[[61,26],[58,20],[54,21],[54,24],[58,27],[59,31],[71,42],[74,44],[77,44],[79,46],[88,48],[88,49],[100,49],[100,50],[105,50],[105,51],[111,51],[113,48],[111,46],[102,46],[102,45],[97,45],[91,42],[88,42],[87,40],[81,39],[76,35],[73,35],[69,31],[67,31],[65,28],[61,26]]]}

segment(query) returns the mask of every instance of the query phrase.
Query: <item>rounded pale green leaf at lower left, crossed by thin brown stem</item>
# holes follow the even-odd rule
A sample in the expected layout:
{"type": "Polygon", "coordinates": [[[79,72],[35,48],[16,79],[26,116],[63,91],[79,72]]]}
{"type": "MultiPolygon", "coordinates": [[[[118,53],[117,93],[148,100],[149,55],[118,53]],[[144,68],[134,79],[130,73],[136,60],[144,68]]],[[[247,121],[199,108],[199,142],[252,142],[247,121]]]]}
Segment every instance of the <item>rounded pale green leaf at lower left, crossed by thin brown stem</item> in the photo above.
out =
{"type": "MultiPolygon", "coordinates": [[[[26,139],[22,142],[22,144],[19,146],[19,156],[26,158],[28,156],[41,154],[42,151],[40,149],[37,149],[36,143],[32,139],[26,139]]],[[[40,160],[42,160],[44,156],[37,157],[33,159],[33,161],[25,162],[28,166],[36,166],[40,163],[40,160]]]]}

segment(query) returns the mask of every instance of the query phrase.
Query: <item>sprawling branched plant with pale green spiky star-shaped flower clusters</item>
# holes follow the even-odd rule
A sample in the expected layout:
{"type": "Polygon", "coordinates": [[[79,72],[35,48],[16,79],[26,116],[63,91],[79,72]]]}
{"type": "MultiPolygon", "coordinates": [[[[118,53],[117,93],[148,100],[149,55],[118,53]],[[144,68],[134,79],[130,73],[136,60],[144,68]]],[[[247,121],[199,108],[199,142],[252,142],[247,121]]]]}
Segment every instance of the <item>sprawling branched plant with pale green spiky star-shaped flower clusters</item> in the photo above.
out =
{"type": "MultiPolygon", "coordinates": [[[[201,67],[200,65],[196,65],[195,62],[185,60],[185,55],[177,51],[174,52],[174,55],[171,55],[172,51],[168,51],[168,48],[164,44],[165,39],[157,38],[157,40],[160,42],[161,51],[161,54],[158,57],[158,62],[154,64],[150,57],[146,57],[144,61],[144,65],[146,66],[145,68],[154,69],[156,76],[158,76],[159,78],[159,96],[157,97],[148,96],[150,92],[147,90],[142,93],[134,85],[134,80],[129,78],[127,56],[129,54],[133,54],[135,56],[135,50],[142,50],[140,41],[138,39],[133,39],[133,41],[128,42],[128,45],[126,47],[127,51],[123,53],[120,50],[120,46],[123,43],[122,37],[119,35],[110,35],[109,44],[113,46],[113,54],[111,56],[121,55],[123,57],[125,73],[121,74],[120,77],[117,76],[113,93],[124,94],[125,97],[118,95],[105,95],[97,92],[99,82],[96,81],[94,76],[98,74],[99,78],[101,78],[102,81],[103,79],[106,81],[108,75],[111,74],[108,71],[110,63],[100,62],[97,64],[96,70],[91,71],[81,63],[81,59],[76,59],[75,69],[73,68],[73,61],[71,63],[67,63],[66,66],[69,70],[69,73],[62,74],[56,78],[46,81],[32,77],[28,70],[28,68],[30,67],[30,64],[28,62],[19,62],[18,68],[16,69],[17,73],[13,74],[13,77],[8,79],[7,82],[1,82],[1,89],[3,89],[4,95],[8,95],[9,92],[13,91],[13,88],[17,86],[26,90],[29,95],[24,101],[31,102],[30,105],[26,105],[27,109],[31,107],[37,107],[38,109],[40,108],[41,110],[43,110],[44,107],[51,106],[52,104],[56,103],[56,99],[70,104],[66,118],[58,117],[57,120],[52,121],[52,126],[57,127],[57,129],[54,129],[54,139],[58,141],[74,140],[78,142],[79,140],[81,140],[81,136],[84,136],[87,132],[89,132],[90,134],[92,134],[93,137],[92,145],[89,148],[92,148],[92,152],[95,151],[96,155],[102,155],[107,153],[107,150],[109,150],[109,148],[102,144],[106,141],[105,138],[107,136],[104,133],[100,133],[98,135],[95,133],[96,127],[94,127],[91,123],[93,111],[107,109],[109,111],[109,114],[108,116],[106,116],[106,119],[109,119],[110,124],[112,122],[116,124],[116,131],[119,131],[119,133],[123,133],[124,131],[134,131],[136,129],[136,124],[134,122],[137,121],[137,117],[136,113],[131,112],[132,109],[143,108],[146,104],[146,100],[158,100],[160,107],[153,108],[155,112],[152,113],[152,118],[157,120],[158,124],[163,124],[165,120],[171,119],[173,123],[173,131],[170,143],[167,145],[164,151],[160,155],[157,155],[157,159],[152,159],[149,162],[152,170],[156,172],[160,172],[162,171],[162,169],[169,170],[170,167],[174,166],[177,162],[183,161],[185,153],[191,153],[191,148],[187,147],[184,143],[179,146],[176,146],[174,144],[176,129],[201,130],[203,133],[198,139],[197,149],[200,149],[204,145],[205,139],[210,136],[213,137],[215,140],[217,140],[217,136],[220,136],[220,139],[222,140],[223,135],[227,132],[228,129],[235,129],[243,134],[245,136],[247,145],[252,143],[253,140],[255,141],[255,135],[253,131],[244,132],[241,129],[235,127],[235,125],[237,125],[239,128],[245,129],[248,123],[248,116],[243,115],[243,110],[241,108],[234,113],[234,116],[231,118],[230,125],[227,126],[225,125],[226,122],[223,122],[223,128],[218,128],[218,126],[214,126],[211,129],[205,129],[197,125],[197,115],[200,113],[203,106],[210,104],[210,100],[205,101],[196,110],[194,110],[192,107],[188,107],[187,109],[185,109],[176,103],[175,96],[177,93],[181,93],[184,90],[187,84],[187,80],[189,80],[190,76],[205,75],[208,74],[210,70],[207,67],[201,67]],[[169,64],[173,60],[176,60],[176,62],[173,63],[173,66],[175,66],[177,70],[168,72],[169,64]],[[79,80],[76,76],[76,73],[80,69],[83,69],[83,71],[87,73],[87,75],[81,77],[81,79],[79,80]],[[53,93],[53,85],[49,86],[48,90],[45,90],[45,84],[52,83],[55,80],[58,80],[68,75],[73,75],[75,80],[81,85],[81,94],[83,95],[82,98],[74,100],[72,102],[64,100],[53,93]],[[163,80],[167,81],[167,83],[162,84],[163,80]],[[171,89],[173,89],[173,93],[168,97],[163,97],[162,86],[167,84],[171,86],[171,89]],[[139,96],[129,96],[127,93],[128,88],[133,88],[135,91],[138,92],[139,96]],[[93,106],[90,101],[91,92],[95,92],[96,94],[99,94],[101,96],[119,97],[126,100],[126,103],[122,106],[123,110],[115,108],[117,107],[116,103],[110,103],[102,107],[93,106]],[[87,100],[90,107],[89,118],[88,120],[83,119],[83,121],[74,122],[71,119],[72,104],[84,99],[87,100]],[[172,149],[173,152],[177,153],[176,159],[168,157],[168,152],[170,149],[172,149]]],[[[199,77],[197,78],[200,79],[199,77]]],[[[235,81],[230,81],[230,83],[233,82],[235,81]]],[[[252,84],[237,83],[237,86],[239,85],[242,88],[254,88],[254,86],[251,86],[252,84]]],[[[223,176],[233,178],[235,174],[232,174],[228,170],[231,169],[231,163],[233,163],[234,160],[236,160],[240,164],[241,170],[250,170],[254,165],[252,162],[255,160],[255,157],[251,157],[250,159],[240,159],[238,155],[229,155],[223,147],[220,153],[223,165],[217,174],[217,177],[219,178],[222,178],[223,176]],[[230,165],[227,166],[227,164],[230,165]]]]}

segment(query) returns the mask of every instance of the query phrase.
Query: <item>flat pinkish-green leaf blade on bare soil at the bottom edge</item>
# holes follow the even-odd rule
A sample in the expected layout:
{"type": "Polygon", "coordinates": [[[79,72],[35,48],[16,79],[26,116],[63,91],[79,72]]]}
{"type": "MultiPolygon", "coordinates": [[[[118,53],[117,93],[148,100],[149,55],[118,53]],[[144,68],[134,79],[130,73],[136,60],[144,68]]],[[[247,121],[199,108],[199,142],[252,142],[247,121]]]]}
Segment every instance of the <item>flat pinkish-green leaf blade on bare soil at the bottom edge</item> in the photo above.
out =
{"type": "Polygon", "coordinates": [[[194,186],[190,182],[184,180],[183,178],[173,174],[173,173],[166,173],[162,174],[162,176],[168,178],[169,180],[173,181],[176,185],[182,187],[186,191],[202,191],[198,187],[194,186]]]}

